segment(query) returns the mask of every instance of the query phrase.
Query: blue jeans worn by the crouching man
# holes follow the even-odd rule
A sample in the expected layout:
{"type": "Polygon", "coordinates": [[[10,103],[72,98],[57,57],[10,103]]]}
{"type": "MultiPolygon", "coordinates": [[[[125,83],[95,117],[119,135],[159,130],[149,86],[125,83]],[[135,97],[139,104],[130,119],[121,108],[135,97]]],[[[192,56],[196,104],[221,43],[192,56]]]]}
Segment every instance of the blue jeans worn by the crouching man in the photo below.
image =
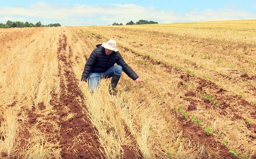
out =
{"type": "Polygon", "coordinates": [[[120,65],[112,66],[108,70],[104,72],[92,72],[88,76],[88,86],[91,88],[91,92],[93,93],[93,90],[95,87],[99,87],[99,81],[100,79],[106,79],[110,78],[113,75],[121,76],[123,69],[120,65]]]}

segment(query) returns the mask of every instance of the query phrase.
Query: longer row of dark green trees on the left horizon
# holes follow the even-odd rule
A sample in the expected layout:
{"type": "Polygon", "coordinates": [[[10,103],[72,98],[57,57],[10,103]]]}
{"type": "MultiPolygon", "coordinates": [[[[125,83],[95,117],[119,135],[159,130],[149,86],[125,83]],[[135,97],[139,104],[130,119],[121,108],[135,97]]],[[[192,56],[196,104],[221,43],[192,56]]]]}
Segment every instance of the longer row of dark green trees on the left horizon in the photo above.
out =
{"type": "Polygon", "coordinates": [[[43,25],[40,21],[37,22],[36,24],[29,23],[29,22],[12,22],[12,21],[7,21],[6,24],[0,23],[0,28],[10,28],[10,27],[53,27],[53,26],[61,26],[60,23],[55,23],[55,24],[48,24],[48,25],[43,25]]]}

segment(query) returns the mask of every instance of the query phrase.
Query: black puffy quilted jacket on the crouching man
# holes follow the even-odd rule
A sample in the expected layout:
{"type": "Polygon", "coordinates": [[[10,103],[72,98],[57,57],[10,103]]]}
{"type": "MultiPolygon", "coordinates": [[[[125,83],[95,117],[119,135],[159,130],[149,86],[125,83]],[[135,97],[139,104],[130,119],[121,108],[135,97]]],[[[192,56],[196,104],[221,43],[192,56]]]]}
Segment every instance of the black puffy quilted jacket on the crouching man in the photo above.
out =
{"type": "Polygon", "coordinates": [[[104,72],[114,66],[115,63],[120,65],[131,79],[135,80],[138,78],[138,75],[125,63],[119,51],[106,55],[105,48],[98,44],[86,61],[81,80],[87,81],[90,73],[104,72]]]}

